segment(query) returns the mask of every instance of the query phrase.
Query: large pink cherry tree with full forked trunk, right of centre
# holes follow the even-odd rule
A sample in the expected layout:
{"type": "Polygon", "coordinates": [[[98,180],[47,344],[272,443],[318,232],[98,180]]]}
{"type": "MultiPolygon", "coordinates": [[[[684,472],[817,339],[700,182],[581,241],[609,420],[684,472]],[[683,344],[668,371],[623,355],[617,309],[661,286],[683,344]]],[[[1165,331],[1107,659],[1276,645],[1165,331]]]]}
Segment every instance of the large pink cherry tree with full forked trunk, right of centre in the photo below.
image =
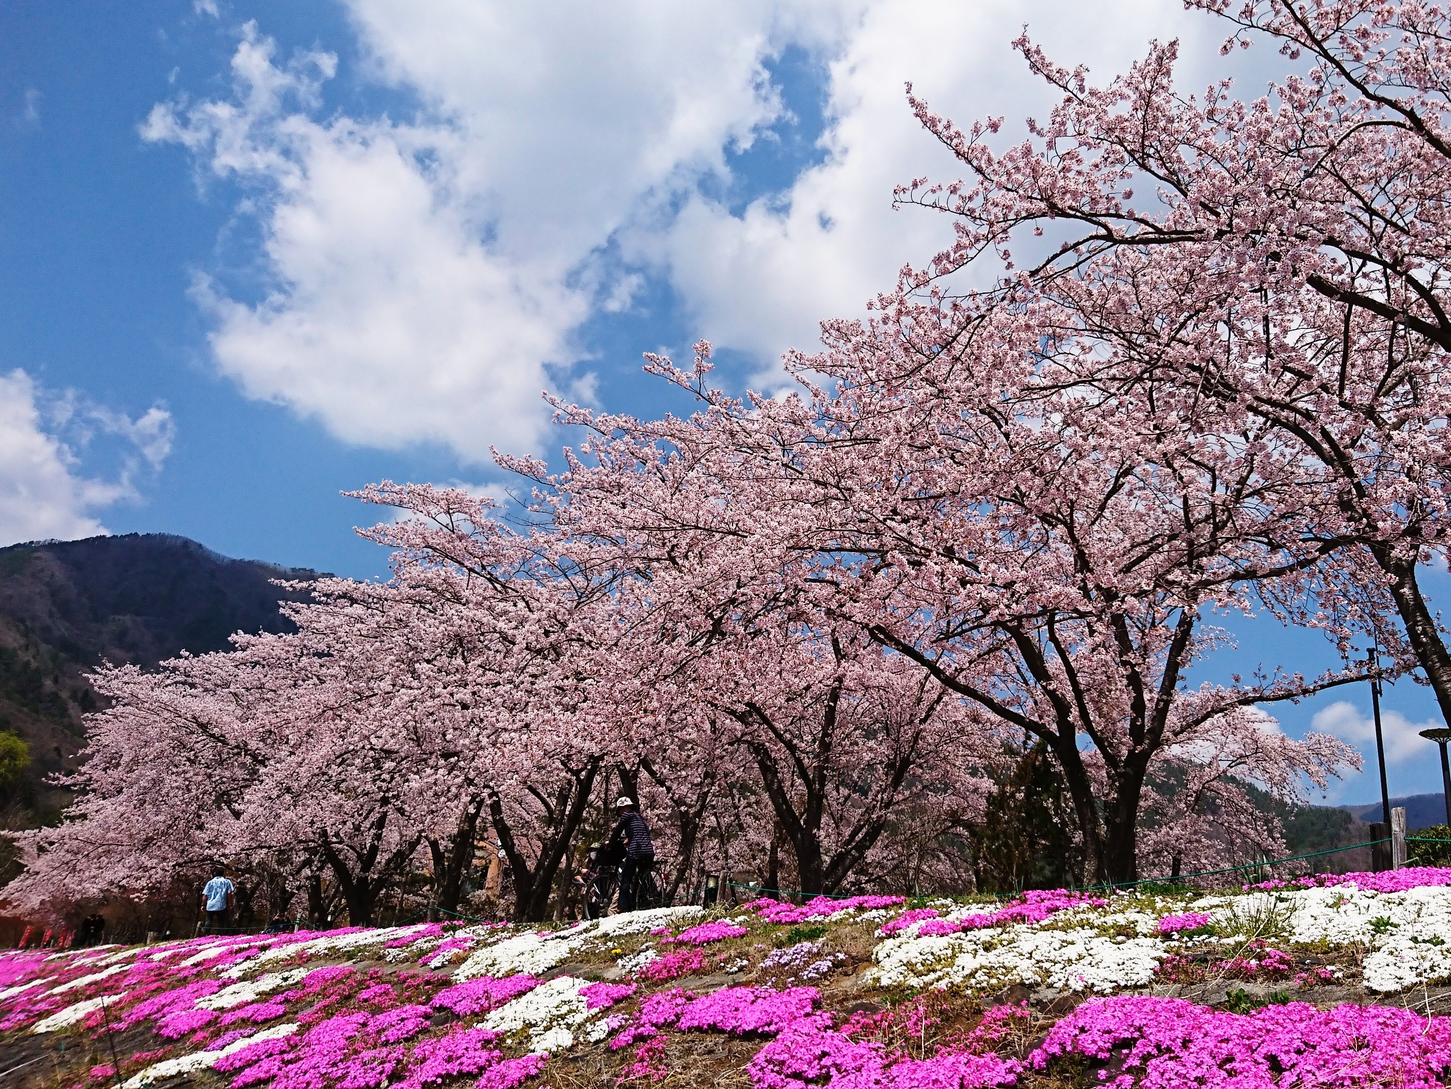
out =
{"type": "MultiPolygon", "coordinates": [[[[1246,758],[1242,777],[1297,793],[1300,774],[1323,786],[1352,759],[1322,736],[1275,749],[1233,739],[1241,709],[1357,671],[1185,684],[1217,642],[1206,613],[1248,611],[1258,585],[1303,579],[1319,555],[1267,531],[1278,508],[1251,486],[1242,443],[1207,462],[1142,405],[1045,385],[1030,311],[963,331],[945,324],[948,308],[884,306],[895,309],[869,327],[826,327],[830,351],[810,364],[839,379],[833,395],[808,386],[808,398],[743,405],[705,386],[705,351],[694,373],[656,360],[708,408],[609,418],[592,447],[614,468],[601,510],[649,521],[656,556],[726,542],[696,568],[736,608],[810,598],[1046,742],[1097,880],[1135,877],[1145,788],[1170,764],[1244,748],[1259,764],[1246,758]]],[[[575,502],[583,475],[569,479],[575,502]]]]}

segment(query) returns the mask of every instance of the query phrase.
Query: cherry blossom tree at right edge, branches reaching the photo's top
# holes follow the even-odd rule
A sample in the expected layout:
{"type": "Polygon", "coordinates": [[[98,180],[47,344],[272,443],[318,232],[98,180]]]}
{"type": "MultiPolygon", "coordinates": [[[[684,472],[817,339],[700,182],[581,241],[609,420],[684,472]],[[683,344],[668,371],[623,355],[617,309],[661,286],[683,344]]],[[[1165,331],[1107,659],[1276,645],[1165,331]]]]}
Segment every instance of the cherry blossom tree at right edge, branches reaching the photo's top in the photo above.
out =
{"type": "Polygon", "coordinates": [[[1232,25],[1226,51],[1268,42],[1300,71],[1252,102],[1228,81],[1185,97],[1175,45],[1155,44],[1098,89],[1024,38],[1064,97],[1003,151],[997,121],[959,129],[914,97],[971,179],[900,192],[956,222],[903,292],[962,328],[1051,299],[1045,335],[1098,348],[1074,380],[1154,398],[1206,441],[1252,433],[1259,472],[1297,478],[1284,542],[1329,556],[1304,617],[1342,645],[1358,629],[1405,646],[1451,716],[1451,653],[1418,574],[1448,531],[1451,16],[1371,0],[1193,6],[1232,25]],[[995,289],[949,286],[997,261],[995,289]]]}

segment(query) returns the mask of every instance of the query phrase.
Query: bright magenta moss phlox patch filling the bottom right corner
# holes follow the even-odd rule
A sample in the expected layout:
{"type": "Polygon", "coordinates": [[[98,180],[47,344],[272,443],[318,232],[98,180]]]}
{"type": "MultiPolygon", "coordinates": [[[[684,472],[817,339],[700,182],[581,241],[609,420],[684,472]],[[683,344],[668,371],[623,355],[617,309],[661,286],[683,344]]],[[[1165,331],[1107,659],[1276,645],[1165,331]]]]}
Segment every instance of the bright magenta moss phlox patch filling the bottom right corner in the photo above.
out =
{"type": "Polygon", "coordinates": [[[1120,996],[1078,1006],[1048,1032],[1030,1061],[1062,1056],[1117,1061],[1127,1089],[1438,1089],[1451,1070],[1451,1019],[1393,1006],[1303,1002],[1228,1013],[1184,999],[1120,996]]]}

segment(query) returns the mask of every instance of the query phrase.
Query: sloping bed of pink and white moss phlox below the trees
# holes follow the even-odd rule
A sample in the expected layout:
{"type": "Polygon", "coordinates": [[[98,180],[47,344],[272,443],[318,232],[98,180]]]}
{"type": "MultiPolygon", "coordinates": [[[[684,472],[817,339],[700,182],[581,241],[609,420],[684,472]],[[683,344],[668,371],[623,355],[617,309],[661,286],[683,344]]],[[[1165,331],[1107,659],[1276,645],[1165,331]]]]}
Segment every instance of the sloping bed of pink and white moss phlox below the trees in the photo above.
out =
{"type": "Polygon", "coordinates": [[[1431,1086],[1451,1021],[1396,1006],[1451,1008],[1444,934],[1418,870],[200,938],[0,954],[0,1032],[73,1089],[1431,1086]]]}

